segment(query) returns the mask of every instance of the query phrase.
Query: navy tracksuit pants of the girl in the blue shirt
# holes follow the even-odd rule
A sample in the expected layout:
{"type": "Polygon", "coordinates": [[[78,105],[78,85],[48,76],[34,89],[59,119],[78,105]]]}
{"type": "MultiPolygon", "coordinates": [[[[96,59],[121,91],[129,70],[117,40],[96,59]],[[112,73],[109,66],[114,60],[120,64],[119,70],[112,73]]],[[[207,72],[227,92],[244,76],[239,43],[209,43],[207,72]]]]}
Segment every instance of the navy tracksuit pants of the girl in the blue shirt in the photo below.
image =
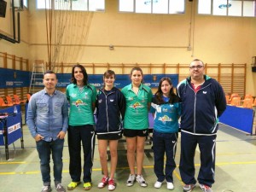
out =
{"type": "Polygon", "coordinates": [[[175,154],[177,148],[177,133],[153,132],[154,173],[157,181],[173,182],[172,172],[176,168],[175,154]],[[164,172],[164,157],[166,154],[166,170],[164,172]]]}

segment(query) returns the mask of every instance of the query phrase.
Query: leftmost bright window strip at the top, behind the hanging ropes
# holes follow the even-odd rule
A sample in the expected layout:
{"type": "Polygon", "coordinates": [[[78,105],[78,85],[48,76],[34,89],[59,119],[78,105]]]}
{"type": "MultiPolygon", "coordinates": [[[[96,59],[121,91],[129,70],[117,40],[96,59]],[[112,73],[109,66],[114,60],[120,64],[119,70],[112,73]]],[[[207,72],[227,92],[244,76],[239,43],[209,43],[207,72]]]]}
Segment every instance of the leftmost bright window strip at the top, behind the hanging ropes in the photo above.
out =
{"type": "Polygon", "coordinates": [[[51,7],[55,10],[105,11],[105,0],[37,0],[37,9],[51,7]]]}

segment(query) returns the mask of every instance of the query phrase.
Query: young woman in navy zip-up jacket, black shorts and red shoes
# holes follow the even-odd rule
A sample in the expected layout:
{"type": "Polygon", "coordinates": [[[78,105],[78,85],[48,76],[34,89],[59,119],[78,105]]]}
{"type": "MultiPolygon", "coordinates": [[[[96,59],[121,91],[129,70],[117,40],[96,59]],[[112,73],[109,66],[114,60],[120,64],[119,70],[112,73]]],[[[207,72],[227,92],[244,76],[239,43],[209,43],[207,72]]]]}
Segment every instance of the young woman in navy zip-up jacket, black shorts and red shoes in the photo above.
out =
{"type": "Polygon", "coordinates": [[[104,73],[104,86],[96,96],[96,135],[104,174],[98,188],[101,189],[108,184],[108,190],[115,189],[113,176],[118,160],[117,146],[119,138],[122,137],[121,119],[125,116],[125,97],[119,89],[113,87],[114,80],[115,73],[112,70],[104,73]],[[106,159],[108,143],[111,155],[110,176],[106,159]]]}

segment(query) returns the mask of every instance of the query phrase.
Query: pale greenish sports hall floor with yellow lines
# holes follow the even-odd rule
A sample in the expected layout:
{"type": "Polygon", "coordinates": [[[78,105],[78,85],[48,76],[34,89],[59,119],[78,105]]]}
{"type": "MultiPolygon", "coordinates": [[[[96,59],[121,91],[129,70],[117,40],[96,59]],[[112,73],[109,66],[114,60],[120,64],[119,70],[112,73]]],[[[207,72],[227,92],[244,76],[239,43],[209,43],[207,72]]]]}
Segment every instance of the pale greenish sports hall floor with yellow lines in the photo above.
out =
{"type": "MultiPolygon", "coordinates": [[[[255,122],[255,121],[254,121],[255,122]]],[[[32,139],[27,126],[23,125],[24,145],[20,148],[20,140],[13,145],[9,145],[9,160],[5,160],[4,147],[0,146],[0,191],[1,192],[39,192],[41,191],[42,181],[39,170],[38,152],[35,148],[35,142],[32,139]]],[[[177,145],[176,162],[179,163],[180,142],[177,145]]],[[[119,162],[115,175],[117,188],[119,191],[168,191],[166,183],[160,189],[154,189],[156,177],[154,175],[154,154],[151,145],[146,143],[143,176],[148,182],[147,188],[142,188],[135,183],[132,187],[126,187],[125,182],[129,175],[129,168],[125,154],[125,143],[119,143],[119,162]]],[[[198,149],[195,154],[196,174],[199,170],[200,153],[198,149]]],[[[62,184],[67,187],[71,181],[68,173],[68,149],[67,140],[63,153],[63,174],[62,184]]],[[[214,192],[253,192],[256,191],[255,182],[256,173],[256,136],[250,136],[244,132],[237,131],[226,125],[220,125],[217,137],[217,159],[216,159],[216,183],[213,184],[214,192]]],[[[52,173],[51,173],[52,176],[52,173]]],[[[172,191],[183,191],[183,183],[179,176],[178,168],[173,173],[174,187],[172,191]]],[[[108,191],[108,188],[97,189],[97,183],[102,178],[99,155],[96,150],[94,157],[94,166],[92,172],[94,191],[108,191]]],[[[52,183],[52,187],[53,183],[52,183]]],[[[55,189],[53,189],[55,191],[55,189]]],[[[83,191],[83,185],[73,189],[74,192],[83,191]]],[[[193,191],[201,191],[197,186],[193,191]]]]}

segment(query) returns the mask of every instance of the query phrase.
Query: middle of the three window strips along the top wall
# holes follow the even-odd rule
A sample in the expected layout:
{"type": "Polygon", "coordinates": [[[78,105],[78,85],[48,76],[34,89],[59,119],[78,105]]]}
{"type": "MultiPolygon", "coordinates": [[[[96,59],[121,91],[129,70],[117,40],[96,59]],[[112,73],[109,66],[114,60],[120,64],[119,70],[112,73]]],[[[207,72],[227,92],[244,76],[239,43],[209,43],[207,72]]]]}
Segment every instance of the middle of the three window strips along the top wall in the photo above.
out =
{"type": "Polygon", "coordinates": [[[120,12],[140,14],[184,14],[184,0],[119,0],[120,12]]]}

